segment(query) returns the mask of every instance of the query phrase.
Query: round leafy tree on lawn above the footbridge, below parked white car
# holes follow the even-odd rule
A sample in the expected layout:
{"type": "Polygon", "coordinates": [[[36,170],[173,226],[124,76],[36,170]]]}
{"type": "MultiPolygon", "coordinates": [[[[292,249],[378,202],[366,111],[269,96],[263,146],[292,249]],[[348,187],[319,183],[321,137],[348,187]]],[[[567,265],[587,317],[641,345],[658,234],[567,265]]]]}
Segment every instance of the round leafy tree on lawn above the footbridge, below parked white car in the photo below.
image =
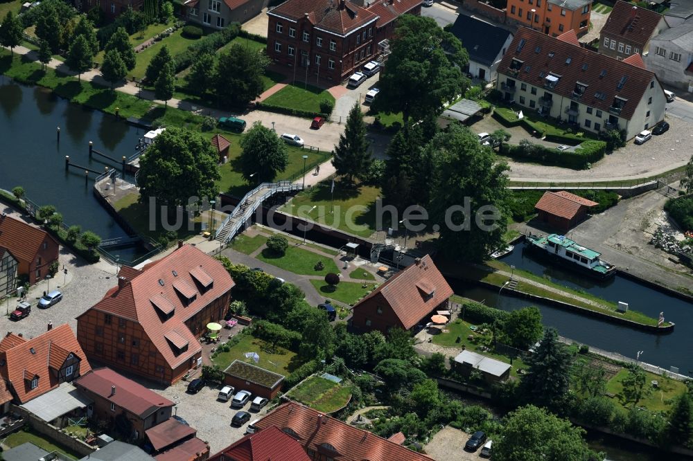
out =
{"type": "Polygon", "coordinates": [[[261,122],[253,123],[240,140],[240,147],[243,148],[240,172],[249,183],[274,181],[278,173],[286,170],[289,162],[286,143],[261,122]]]}

